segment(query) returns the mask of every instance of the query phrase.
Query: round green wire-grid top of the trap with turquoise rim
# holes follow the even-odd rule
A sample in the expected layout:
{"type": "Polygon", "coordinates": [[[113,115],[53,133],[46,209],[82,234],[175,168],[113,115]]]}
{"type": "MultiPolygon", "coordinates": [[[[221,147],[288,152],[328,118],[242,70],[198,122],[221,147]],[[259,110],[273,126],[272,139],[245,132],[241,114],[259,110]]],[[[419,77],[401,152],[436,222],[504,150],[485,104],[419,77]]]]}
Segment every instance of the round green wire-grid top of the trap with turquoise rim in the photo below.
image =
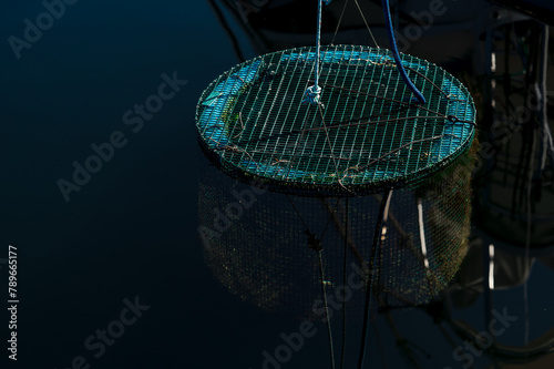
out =
{"type": "Polygon", "coordinates": [[[419,105],[390,51],[321,47],[320,104],[301,104],[315,60],[315,48],[269,53],[204,91],[199,143],[222,171],[275,192],[353,196],[418,185],[471,145],[472,99],[441,68],[401,57],[419,105]]]}

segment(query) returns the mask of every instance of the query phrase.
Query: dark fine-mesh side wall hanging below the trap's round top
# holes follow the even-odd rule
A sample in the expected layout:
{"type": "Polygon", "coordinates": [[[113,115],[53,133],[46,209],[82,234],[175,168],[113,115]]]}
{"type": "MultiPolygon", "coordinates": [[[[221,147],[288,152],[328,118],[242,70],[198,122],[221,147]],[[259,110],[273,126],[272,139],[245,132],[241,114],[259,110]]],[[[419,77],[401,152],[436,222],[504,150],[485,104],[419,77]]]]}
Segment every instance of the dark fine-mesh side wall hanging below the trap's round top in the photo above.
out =
{"type": "MultiPolygon", "coordinates": [[[[373,301],[381,308],[427,304],[447,287],[466,253],[473,158],[474,150],[466,151],[417,188],[392,192],[373,265],[365,260],[373,253],[381,195],[350,197],[348,205],[347,197],[289,196],[311,232],[324,235],[325,285],[334,316],[340,316],[346,293],[349,316],[361,319],[371,274],[373,301]]],[[[198,198],[205,258],[229,291],[267,310],[324,318],[317,252],[308,247],[306,229],[286,195],[245,185],[209,166],[198,198]]]]}

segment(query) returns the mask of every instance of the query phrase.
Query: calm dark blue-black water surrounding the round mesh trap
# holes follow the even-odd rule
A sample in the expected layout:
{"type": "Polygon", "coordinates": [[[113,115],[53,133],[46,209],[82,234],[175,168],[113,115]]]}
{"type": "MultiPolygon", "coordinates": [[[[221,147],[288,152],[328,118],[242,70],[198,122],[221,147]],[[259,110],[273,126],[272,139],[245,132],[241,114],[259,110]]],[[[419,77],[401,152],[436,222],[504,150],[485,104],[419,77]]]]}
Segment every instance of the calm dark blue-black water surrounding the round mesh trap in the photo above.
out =
{"type": "MultiPolygon", "coordinates": [[[[280,332],[298,330],[299,320],[228,294],[205,266],[197,232],[198,181],[211,167],[196,144],[194,114],[207,84],[238,62],[228,34],[206,1],[80,0],[65,8],[19,60],[7,40],[22,38],[23,20],[35,23],[44,7],[10,1],[0,11],[0,258],[17,246],[20,299],[18,361],[7,359],[4,310],[0,368],[72,368],[78,356],[91,368],[261,368],[261,352],[281,345],[280,332]],[[123,114],[174,71],[187,84],[133,133],[123,114]],[[126,145],[65,202],[57,182],[71,181],[72,163],[83,164],[91,144],[114,131],[126,145]],[[150,308],[94,358],[85,339],[135,297],[150,308]]],[[[230,24],[245,58],[254,57],[230,24]]],[[[0,267],[7,306],[8,268],[0,267]]],[[[537,264],[532,278],[535,338],[553,326],[553,276],[537,264]]],[[[521,286],[495,296],[500,310],[523,317],[521,286]]],[[[464,315],[478,326],[480,312],[464,315]]],[[[416,350],[422,368],[460,367],[429,315],[394,314],[403,334],[432,353],[416,350]]],[[[523,321],[503,340],[521,344],[523,321]]],[[[402,367],[386,322],[377,324],[388,368],[402,367]]],[[[283,368],[328,367],[326,339],[318,334],[283,368]]],[[[383,367],[375,340],[368,361],[383,367]]]]}

